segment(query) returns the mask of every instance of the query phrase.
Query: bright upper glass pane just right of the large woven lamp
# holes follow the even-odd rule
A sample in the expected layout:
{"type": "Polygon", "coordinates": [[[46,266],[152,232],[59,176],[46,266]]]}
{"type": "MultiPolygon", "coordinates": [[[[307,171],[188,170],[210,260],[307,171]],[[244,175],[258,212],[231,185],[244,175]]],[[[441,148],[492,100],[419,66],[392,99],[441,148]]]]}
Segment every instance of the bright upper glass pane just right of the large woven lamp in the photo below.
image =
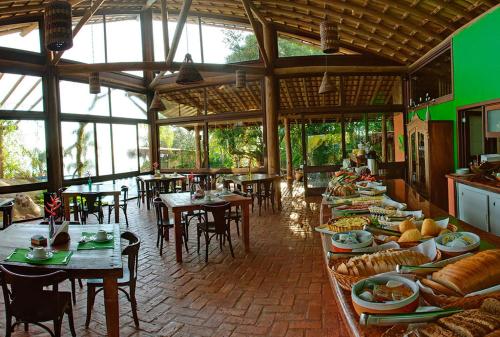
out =
{"type": "MultiPolygon", "coordinates": [[[[94,15],[92,19],[102,20],[102,16],[94,15]]],[[[73,39],[73,47],[63,54],[63,58],[83,63],[105,62],[104,24],[85,24],[73,39]]]]}

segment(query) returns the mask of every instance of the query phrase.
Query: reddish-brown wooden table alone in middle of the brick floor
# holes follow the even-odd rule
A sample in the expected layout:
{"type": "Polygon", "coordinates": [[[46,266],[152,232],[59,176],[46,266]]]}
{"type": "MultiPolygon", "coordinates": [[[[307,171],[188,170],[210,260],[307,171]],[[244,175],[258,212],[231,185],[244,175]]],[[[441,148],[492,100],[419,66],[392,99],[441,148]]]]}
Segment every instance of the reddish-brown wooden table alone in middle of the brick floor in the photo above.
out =
{"type": "MultiPolygon", "coordinates": [[[[160,198],[167,205],[168,208],[174,213],[174,230],[175,230],[175,256],[177,262],[182,262],[182,212],[196,211],[201,209],[203,201],[191,200],[189,192],[185,193],[169,193],[160,194],[160,198]]],[[[245,246],[245,251],[250,250],[250,204],[252,199],[238,195],[229,194],[226,196],[220,196],[220,199],[230,202],[231,205],[241,206],[243,210],[243,245],[245,246]]]]}

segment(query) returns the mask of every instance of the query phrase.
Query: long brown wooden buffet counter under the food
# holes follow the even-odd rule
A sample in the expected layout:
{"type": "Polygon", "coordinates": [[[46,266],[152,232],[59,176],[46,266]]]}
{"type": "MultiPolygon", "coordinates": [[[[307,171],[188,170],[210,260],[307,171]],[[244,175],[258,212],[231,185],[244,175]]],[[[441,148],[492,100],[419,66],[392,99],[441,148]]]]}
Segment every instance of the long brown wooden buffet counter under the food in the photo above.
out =
{"type": "MultiPolygon", "coordinates": [[[[387,186],[387,195],[395,201],[403,202],[408,205],[408,210],[423,210],[426,217],[436,218],[436,217],[450,217],[450,215],[439,207],[433,205],[429,201],[422,198],[413,188],[407,185],[404,180],[395,179],[384,181],[384,185],[387,186]]],[[[320,222],[321,224],[326,223],[332,217],[332,209],[329,204],[323,198],[321,204],[320,212],[320,222]]],[[[500,247],[500,237],[493,235],[491,233],[484,232],[474,226],[471,226],[463,221],[456,220],[453,217],[453,223],[458,227],[459,231],[473,232],[481,237],[481,249],[484,247],[500,247]],[[456,221],[455,221],[456,220],[456,221]]],[[[349,335],[351,337],[362,337],[362,336],[381,336],[389,327],[379,327],[370,326],[363,327],[359,324],[359,316],[354,311],[354,307],[351,301],[351,293],[343,290],[340,284],[337,282],[333,276],[329,267],[329,257],[328,252],[330,250],[331,236],[328,234],[321,233],[322,245],[324,250],[324,262],[327,269],[327,275],[330,279],[330,285],[332,291],[337,299],[337,305],[345,323],[349,335]]]]}

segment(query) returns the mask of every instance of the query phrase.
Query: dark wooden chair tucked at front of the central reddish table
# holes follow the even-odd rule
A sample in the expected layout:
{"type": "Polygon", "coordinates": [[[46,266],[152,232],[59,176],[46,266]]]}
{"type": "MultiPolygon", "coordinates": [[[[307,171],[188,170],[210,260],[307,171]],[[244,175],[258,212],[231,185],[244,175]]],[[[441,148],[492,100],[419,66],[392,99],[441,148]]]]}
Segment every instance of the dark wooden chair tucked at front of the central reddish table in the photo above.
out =
{"type": "Polygon", "coordinates": [[[220,249],[222,250],[222,240],[227,239],[229,242],[229,249],[231,250],[231,256],[234,258],[233,245],[231,243],[231,228],[229,226],[229,221],[226,218],[226,214],[231,208],[231,204],[220,203],[213,205],[203,205],[202,210],[205,213],[204,221],[198,223],[197,226],[197,236],[198,236],[198,254],[200,253],[200,237],[201,233],[205,236],[205,262],[208,262],[208,245],[210,240],[214,236],[219,238],[220,249]],[[209,213],[213,217],[213,221],[209,221],[209,213]],[[210,235],[211,234],[211,235],[210,235]]]}

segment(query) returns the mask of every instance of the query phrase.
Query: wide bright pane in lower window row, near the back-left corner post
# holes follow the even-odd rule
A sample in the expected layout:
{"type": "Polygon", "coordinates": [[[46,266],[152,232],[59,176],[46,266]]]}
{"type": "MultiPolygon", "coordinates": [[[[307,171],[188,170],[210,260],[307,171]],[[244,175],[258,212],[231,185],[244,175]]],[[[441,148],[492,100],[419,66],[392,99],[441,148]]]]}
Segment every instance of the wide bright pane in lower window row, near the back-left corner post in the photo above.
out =
{"type": "Polygon", "coordinates": [[[113,124],[115,173],[137,171],[137,128],[135,125],[113,124]]]}

